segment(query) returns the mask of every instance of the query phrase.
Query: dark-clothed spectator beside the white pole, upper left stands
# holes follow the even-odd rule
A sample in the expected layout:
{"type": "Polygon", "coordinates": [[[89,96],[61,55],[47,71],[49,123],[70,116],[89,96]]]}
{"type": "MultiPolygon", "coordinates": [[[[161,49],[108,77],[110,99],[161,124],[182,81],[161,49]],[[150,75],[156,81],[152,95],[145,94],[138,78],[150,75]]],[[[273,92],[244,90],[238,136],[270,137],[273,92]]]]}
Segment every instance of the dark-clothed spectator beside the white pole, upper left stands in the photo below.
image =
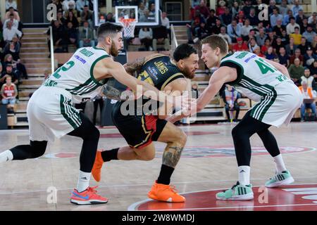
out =
{"type": "MultiPolygon", "coordinates": [[[[63,52],[68,52],[68,46],[67,46],[67,37],[66,37],[66,32],[63,26],[58,22],[58,20],[54,21],[54,25],[52,26],[53,30],[53,40],[54,40],[54,46],[62,46],[62,51],[63,52]]],[[[51,52],[51,41],[49,39],[50,35],[50,30],[47,30],[47,39],[48,39],[48,47],[49,47],[49,52],[51,52]]],[[[51,54],[49,54],[49,58],[51,57],[51,54]]]]}

